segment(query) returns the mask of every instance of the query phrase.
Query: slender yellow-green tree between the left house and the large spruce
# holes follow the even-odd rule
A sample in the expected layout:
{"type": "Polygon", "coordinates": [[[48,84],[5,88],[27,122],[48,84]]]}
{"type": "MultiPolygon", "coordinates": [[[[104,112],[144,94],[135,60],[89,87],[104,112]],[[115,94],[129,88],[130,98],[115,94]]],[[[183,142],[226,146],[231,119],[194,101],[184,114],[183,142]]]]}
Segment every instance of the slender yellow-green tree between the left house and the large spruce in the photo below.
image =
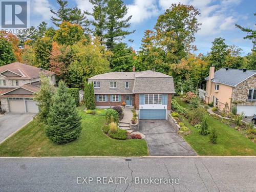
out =
{"type": "Polygon", "coordinates": [[[41,89],[37,94],[35,94],[34,100],[37,102],[39,108],[39,113],[37,114],[38,119],[44,123],[47,123],[47,116],[53,100],[55,89],[47,76],[40,75],[40,79],[41,89]]]}

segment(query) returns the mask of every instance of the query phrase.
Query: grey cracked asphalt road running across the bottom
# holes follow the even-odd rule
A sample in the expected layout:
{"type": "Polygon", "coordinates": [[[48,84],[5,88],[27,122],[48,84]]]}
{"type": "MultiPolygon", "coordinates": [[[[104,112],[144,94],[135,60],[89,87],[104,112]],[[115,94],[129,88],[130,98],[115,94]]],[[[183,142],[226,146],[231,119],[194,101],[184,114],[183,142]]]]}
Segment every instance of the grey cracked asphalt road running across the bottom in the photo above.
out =
{"type": "Polygon", "coordinates": [[[256,191],[255,164],[255,157],[0,158],[0,191],[256,191]],[[150,177],[162,184],[138,184],[150,177]],[[163,183],[169,178],[176,184],[163,183]]]}

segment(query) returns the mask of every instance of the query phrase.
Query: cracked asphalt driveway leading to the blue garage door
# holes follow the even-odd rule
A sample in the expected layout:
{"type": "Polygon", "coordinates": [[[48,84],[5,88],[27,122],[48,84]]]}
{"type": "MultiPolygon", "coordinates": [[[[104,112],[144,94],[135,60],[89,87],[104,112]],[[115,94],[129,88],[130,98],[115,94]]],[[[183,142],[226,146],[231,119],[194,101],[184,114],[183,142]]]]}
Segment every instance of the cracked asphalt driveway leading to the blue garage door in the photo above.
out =
{"type": "Polygon", "coordinates": [[[152,156],[197,155],[167,120],[140,120],[139,127],[152,156]]]}

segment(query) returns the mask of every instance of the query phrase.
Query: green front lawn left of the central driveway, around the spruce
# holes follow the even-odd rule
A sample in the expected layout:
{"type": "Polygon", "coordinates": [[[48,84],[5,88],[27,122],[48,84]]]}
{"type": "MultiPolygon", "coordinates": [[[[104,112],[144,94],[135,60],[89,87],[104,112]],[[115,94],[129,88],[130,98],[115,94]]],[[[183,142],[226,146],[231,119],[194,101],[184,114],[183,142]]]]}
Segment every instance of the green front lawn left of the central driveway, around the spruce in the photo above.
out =
{"type": "MultiPolygon", "coordinates": [[[[81,110],[81,109],[80,109],[81,110]]],[[[104,110],[97,110],[100,114],[104,110]]],[[[14,136],[0,145],[0,156],[146,156],[145,140],[114,140],[106,136],[101,127],[105,117],[82,116],[82,132],[78,140],[57,145],[45,135],[45,126],[30,122],[14,136]]]]}

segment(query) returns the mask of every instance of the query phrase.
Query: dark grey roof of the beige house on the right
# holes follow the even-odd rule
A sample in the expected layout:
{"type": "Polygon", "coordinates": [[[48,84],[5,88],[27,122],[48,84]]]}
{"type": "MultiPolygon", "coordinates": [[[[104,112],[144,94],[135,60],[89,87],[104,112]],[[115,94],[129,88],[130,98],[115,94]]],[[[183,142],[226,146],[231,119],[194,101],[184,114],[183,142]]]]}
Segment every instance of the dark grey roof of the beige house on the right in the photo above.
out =
{"type": "MultiPolygon", "coordinates": [[[[211,79],[211,81],[234,87],[254,74],[256,74],[256,71],[254,70],[246,70],[246,72],[243,72],[242,69],[226,70],[225,68],[222,68],[214,73],[214,78],[211,79]]],[[[205,80],[208,79],[209,76],[205,78],[205,80]]]]}

